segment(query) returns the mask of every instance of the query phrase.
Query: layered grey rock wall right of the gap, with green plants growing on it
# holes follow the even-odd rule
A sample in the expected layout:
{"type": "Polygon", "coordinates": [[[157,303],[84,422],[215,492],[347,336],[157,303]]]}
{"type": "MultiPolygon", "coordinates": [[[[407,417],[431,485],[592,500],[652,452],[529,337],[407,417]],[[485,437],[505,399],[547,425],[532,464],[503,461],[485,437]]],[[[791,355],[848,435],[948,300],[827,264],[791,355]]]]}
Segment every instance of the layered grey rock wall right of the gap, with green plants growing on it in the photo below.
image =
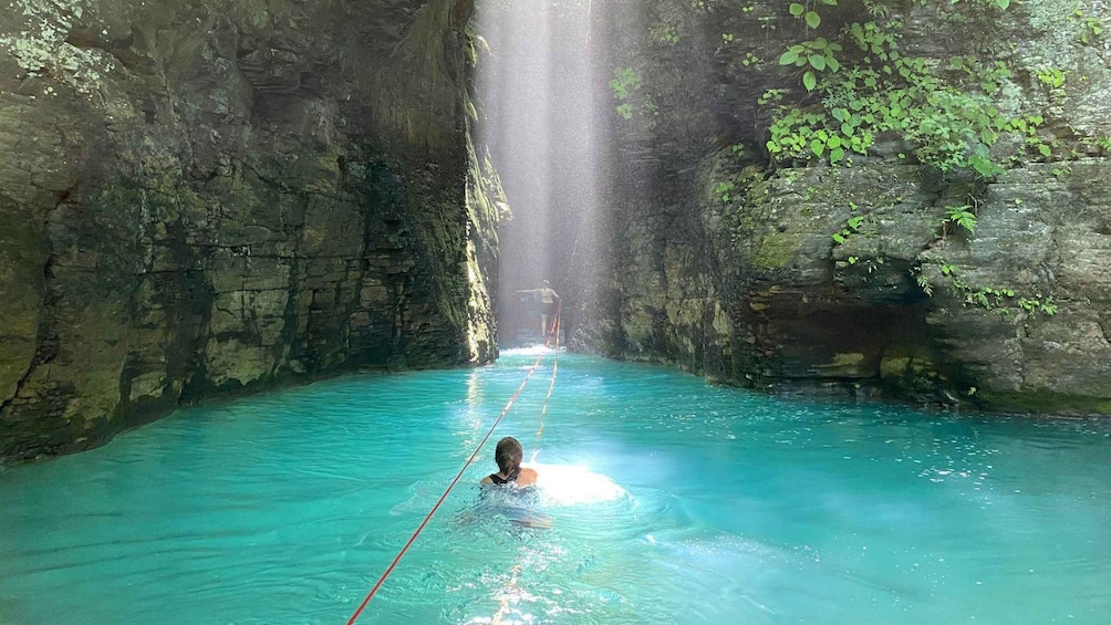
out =
{"type": "Polygon", "coordinates": [[[774,392],[1111,414],[1105,7],[695,6],[617,2],[597,27],[629,119],[610,155],[609,279],[582,303],[579,349],[774,392]],[[870,21],[921,64],[879,62],[883,41],[852,48],[842,27],[870,21]],[[818,37],[844,43],[841,72],[871,63],[898,81],[909,65],[900,84],[921,100],[865,100],[868,73],[808,93],[805,71],[845,75],[818,37]],[[801,67],[780,63],[804,41],[801,67]],[[780,159],[768,141],[794,105],[824,117],[799,117],[779,147],[802,150],[780,159]],[[911,105],[907,130],[848,149],[872,123],[860,115],[911,105]],[[833,115],[852,128],[818,134],[833,115]],[[944,150],[1001,167],[938,167],[944,150]]]}

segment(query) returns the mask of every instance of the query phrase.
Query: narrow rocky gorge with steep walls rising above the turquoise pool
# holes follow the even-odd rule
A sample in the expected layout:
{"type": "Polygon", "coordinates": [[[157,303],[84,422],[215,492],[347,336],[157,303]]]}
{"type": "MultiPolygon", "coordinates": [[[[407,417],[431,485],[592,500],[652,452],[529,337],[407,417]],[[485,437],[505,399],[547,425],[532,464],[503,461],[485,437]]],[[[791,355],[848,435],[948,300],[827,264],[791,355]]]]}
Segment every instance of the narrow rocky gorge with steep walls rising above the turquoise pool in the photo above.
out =
{"type": "Polygon", "coordinates": [[[0,458],[489,363],[548,279],[577,351],[1111,414],[1105,2],[544,7],[559,167],[506,192],[532,154],[491,120],[523,100],[476,94],[510,41],[470,0],[0,8],[0,458]]]}

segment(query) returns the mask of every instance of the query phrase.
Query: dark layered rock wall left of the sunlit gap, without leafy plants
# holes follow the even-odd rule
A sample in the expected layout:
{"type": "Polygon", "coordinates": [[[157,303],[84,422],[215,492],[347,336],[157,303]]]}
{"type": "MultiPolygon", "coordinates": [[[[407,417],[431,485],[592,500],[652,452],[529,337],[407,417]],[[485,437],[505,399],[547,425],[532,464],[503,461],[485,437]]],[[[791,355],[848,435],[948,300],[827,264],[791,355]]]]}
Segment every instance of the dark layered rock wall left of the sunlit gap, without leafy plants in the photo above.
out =
{"type": "Polygon", "coordinates": [[[471,9],[0,8],[0,461],[212,394],[492,359],[471,9]]]}

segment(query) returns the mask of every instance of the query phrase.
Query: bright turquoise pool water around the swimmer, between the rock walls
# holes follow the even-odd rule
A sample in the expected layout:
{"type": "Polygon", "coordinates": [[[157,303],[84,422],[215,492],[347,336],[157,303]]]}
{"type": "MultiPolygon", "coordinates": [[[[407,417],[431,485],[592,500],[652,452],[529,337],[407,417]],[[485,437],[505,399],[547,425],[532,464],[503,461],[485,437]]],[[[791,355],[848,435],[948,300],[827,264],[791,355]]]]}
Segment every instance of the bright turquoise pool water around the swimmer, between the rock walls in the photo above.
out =
{"type": "MultiPolygon", "coordinates": [[[[539,351],[180,411],[0,471],[0,623],[343,623],[539,351]]],[[[787,402],[546,360],[359,623],[1105,624],[1111,423],[787,402]]]]}

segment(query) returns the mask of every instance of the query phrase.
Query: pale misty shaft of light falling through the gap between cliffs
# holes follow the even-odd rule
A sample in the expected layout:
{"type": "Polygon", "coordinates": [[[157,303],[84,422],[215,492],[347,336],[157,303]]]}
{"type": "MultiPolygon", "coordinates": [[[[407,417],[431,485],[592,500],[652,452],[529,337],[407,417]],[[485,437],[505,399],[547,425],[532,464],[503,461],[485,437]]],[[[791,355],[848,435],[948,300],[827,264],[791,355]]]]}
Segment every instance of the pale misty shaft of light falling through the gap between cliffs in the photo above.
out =
{"type": "Polygon", "coordinates": [[[479,140],[490,149],[512,216],[499,228],[498,325],[503,345],[534,339],[520,291],[546,281],[573,323],[597,284],[604,180],[599,144],[613,117],[590,37],[590,0],[482,0],[479,140]]]}

